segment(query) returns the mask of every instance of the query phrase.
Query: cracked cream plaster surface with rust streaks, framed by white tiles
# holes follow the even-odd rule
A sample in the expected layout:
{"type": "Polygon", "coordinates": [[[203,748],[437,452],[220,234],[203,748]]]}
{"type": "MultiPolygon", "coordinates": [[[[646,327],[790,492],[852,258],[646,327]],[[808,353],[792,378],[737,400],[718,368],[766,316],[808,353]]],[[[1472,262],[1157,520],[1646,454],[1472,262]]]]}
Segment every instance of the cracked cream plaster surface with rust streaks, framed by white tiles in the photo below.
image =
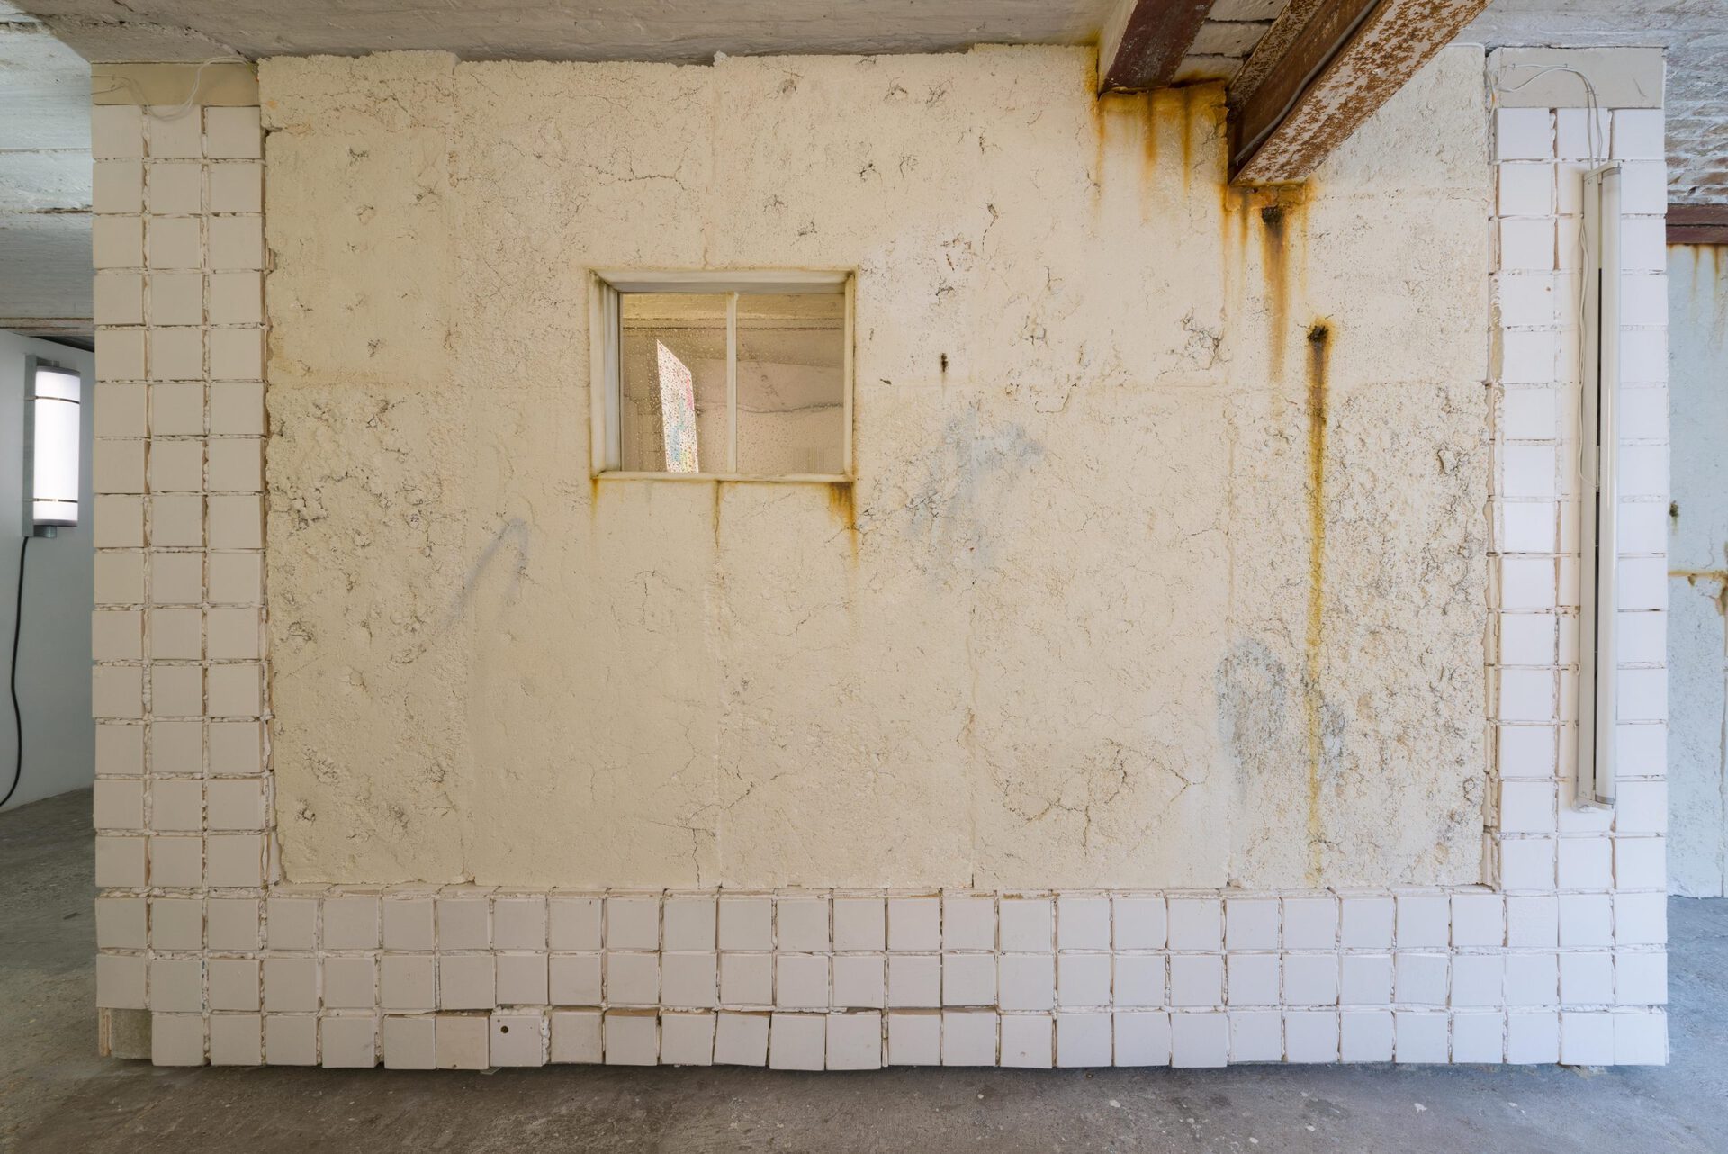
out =
{"type": "Polygon", "coordinates": [[[264,60],[289,879],[1477,879],[1481,76],[264,60]],[[591,480],[589,268],[857,269],[854,492],[591,480]]]}

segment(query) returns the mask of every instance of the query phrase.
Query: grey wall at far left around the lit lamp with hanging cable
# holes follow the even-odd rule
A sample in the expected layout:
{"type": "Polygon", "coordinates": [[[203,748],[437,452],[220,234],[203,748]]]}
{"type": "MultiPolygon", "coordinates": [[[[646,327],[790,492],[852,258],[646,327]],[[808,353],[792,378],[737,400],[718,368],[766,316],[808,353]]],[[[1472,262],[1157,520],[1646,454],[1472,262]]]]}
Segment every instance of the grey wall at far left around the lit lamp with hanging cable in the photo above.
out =
{"type": "MultiPolygon", "coordinates": [[[[24,356],[54,359],[85,375],[79,523],[29,544],[17,700],[24,713],[24,781],[7,808],[88,786],[95,776],[90,720],[90,606],[95,548],[90,532],[92,389],[95,356],[0,330],[0,665],[12,656],[17,549],[24,539],[24,356]]],[[[0,686],[0,793],[12,784],[12,701],[0,686]]]]}

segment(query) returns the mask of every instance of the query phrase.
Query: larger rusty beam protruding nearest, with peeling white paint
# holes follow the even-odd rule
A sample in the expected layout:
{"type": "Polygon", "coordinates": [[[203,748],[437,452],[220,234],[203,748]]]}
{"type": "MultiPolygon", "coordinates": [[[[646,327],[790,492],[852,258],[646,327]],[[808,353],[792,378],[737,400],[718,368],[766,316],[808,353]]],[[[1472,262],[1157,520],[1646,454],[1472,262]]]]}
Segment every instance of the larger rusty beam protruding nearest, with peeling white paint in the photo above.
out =
{"type": "Polygon", "coordinates": [[[1242,69],[1251,92],[1230,95],[1230,181],[1306,180],[1484,7],[1488,0],[1293,3],[1242,69]]]}

